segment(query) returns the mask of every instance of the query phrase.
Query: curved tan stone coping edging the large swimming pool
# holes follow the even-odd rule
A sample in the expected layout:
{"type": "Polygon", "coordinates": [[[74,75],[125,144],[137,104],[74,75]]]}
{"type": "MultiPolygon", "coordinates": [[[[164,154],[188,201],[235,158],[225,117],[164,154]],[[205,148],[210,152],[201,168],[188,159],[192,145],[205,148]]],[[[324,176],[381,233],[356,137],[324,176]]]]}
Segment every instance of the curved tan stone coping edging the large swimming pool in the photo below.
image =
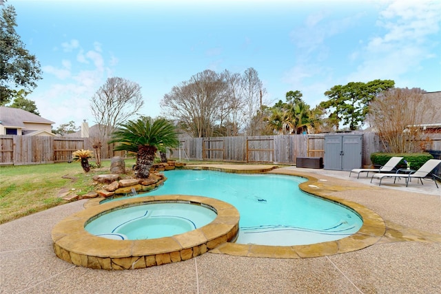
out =
{"type": "Polygon", "coordinates": [[[343,204],[349,209],[353,209],[363,220],[362,227],[357,233],[340,240],[321,242],[309,245],[294,246],[267,246],[256,244],[235,244],[226,242],[212,249],[212,253],[223,253],[236,256],[249,256],[258,258],[315,258],[325,255],[334,255],[364,249],[378,242],[386,232],[384,220],[374,211],[367,207],[334,196],[329,196],[326,189],[318,189],[319,180],[309,174],[289,170],[278,169],[274,165],[187,165],[187,169],[203,169],[215,171],[229,171],[235,173],[255,173],[268,172],[270,174],[285,174],[290,176],[300,176],[307,178],[307,182],[302,182],[299,187],[302,191],[318,196],[326,200],[343,204]]]}

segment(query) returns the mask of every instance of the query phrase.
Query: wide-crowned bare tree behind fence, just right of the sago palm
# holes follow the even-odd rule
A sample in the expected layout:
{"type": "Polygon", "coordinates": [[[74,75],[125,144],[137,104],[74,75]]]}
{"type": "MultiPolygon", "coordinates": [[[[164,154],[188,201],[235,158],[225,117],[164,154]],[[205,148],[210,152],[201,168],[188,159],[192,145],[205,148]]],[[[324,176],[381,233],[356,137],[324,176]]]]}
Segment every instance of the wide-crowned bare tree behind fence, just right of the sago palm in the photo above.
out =
{"type": "Polygon", "coordinates": [[[173,87],[164,95],[161,108],[168,117],[176,118],[181,128],[192,136],[213,136],[214,125],[222,116],[226,90],[222,75],[205,70],[173,87]]]}

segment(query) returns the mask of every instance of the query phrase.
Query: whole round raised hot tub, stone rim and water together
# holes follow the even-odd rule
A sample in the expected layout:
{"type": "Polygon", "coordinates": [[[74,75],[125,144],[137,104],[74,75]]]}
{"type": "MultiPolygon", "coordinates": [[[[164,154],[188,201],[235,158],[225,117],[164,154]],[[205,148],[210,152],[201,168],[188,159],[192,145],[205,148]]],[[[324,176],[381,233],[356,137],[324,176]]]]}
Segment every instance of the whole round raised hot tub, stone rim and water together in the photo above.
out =
{"type": "MultiPolygon", "coordinates": [[[[98,201],[96,200],[96,204],[99,203],[98,201]]],[[[197,214],[190,212],[190,216],[197,214]]],[[[189,260],[215,249],[220,244],[234,241],[238,234],[238,223],[237,209],[221,200],[185,195],[149,196],[99,204],[74,213],[55,225],[52,229],[52,241],[54,242],[55,254],[62,260],[77,266],[108,270],[143,269],[149,266],[189,260]],[[155,212],[157,216],[155,218],[155,213],[150,211],[150,206],[148,206],[154,204],[166,204],[167,213],[163,213],[159,209],[159,212],[155,212]],[[208,216],[205,209],[208,209],[215,213],[216,217],[212,221],[205,220],[208,221],[207,224],[198,227],[196,224],[198,217],[185,220],[186,217],[183,214],[177,215],[176,211],[179,209],[170,210],[171,204],[199,207],[205,217],[208,216]],[[140,216],[136,214],[139,213],[136,212],[136,209],[130,209],[132,207],[140,207],[141,211],[143,210],[145,213],[147,210],[147,213],[145,216],[140,216]],[[123,222],[119,220],[112,223],[113,220],[109,216],[112,216],[112,213],[118,215],[124,209],[132,213],[130,217],[123,222]],[[152,212],[150,218],[148,217],[149,211],[152,212]],[[171,215],[170,211],[174,211],[174,214],[171,215]],[[104,231],[103,235],[99,236],[86,231],[85,227],[95,220],[105,219],[106,216],[108,220],[105,220],[103,227],[110,227],[110,232],[104,231]],[[161,218],[162,221],[158,221],[161,218]],[[161,223],[164,226],[161,226],[161,223]],[[109,224],[111,225],[109,226],[109,224]],[[138,228],[145,227],[145,224],[152,229],[150,233],[148,233],[148,229],[141,230],[147,231],[147,239],[131,240],[130,235],[135,234],[138,228]],[[169,231],[168,236],[158,237],[158,231],[167,231],[166,227],[170,224],[177,224],[177,227],[180,227],[178,234],[169,231]],[[194,226],[196,229],[193,229],[194,226]],[[182,230],[186,232],[181,233],[182,230]],[[156,238],[152,238],[154,237],[153,232],[156,234],[156,238]],[[149,237],[149,234],[152,235],[149,237]]],[[[100,222],[97,224],[99,225],[96,227],[101,227],[100,222]]],[[[140,235],[137,235],[135,239],[139,237],[140,235]]]]}

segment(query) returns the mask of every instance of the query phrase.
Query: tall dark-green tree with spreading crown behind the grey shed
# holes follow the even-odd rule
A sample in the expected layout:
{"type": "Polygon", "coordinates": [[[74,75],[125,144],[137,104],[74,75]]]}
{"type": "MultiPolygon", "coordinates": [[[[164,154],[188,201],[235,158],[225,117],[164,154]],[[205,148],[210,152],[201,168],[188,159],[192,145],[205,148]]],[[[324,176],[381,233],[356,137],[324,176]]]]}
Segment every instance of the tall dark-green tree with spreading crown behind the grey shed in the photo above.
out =
{"type": "Polygon", "coordinates": [[[365,122],[369,112],[369,103],[378,94],[393,88],[394,81],[374,80],[368,83],[351,82],[347,85],[335,85],[325,92],[329,100],[320,103],[320,107],[327,109],[329,123],[338,129],[340,123],[348,125],[349,129],[356,130],[365,122]]]}

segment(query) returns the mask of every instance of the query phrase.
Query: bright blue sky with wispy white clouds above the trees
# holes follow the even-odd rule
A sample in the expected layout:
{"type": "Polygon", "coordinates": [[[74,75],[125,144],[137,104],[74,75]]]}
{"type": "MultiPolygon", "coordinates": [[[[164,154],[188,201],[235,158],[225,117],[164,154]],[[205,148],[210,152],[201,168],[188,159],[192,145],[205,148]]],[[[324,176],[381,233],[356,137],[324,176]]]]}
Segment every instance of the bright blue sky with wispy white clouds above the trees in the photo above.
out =
{"type": "MultiPolygon", "coordinates": [[[[138,83],[161,116],[172,87],[204,70],[253,67],[264,103],[299,90],[315,107],[334,85],[391,79],[441,91],[441,1],[8,0],[43,71],[26,98],[60,124],[94,125],[90,99],[109,77],[138,83]]],[[[134,117],[135,118],[135,117],[134,117]]]]}

